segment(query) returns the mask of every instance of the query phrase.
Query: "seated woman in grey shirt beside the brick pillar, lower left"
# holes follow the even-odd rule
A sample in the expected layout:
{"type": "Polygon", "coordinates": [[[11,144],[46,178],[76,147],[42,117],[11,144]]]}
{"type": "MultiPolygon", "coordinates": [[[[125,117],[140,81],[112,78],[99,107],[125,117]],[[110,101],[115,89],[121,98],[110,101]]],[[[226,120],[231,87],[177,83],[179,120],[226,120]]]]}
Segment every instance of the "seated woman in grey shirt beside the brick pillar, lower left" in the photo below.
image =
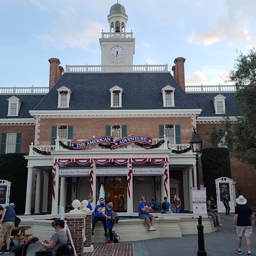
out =
{"type": "Polygon", "coordinates": [[[50,242],[48,242],[46,239],[43,241],[39,240],[39,243],[44,247],[41,248],[38,252],[35,252],[34,256],[46,256],[48,254],[56,256],[56,252],[58,251],[59,247],[68,242],[67,233],[63,230],[64,226],[64,220],[54,220],[52,222],[52,227],[54,228],[55,233],[50,239],[50,242]]]}

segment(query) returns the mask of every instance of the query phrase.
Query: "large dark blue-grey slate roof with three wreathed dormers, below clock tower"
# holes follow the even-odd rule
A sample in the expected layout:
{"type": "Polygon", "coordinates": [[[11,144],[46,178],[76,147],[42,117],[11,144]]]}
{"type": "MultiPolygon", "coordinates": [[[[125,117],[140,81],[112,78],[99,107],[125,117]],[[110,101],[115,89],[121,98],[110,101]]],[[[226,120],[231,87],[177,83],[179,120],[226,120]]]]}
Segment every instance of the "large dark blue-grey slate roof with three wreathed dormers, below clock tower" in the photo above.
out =
{"type": "Polygon", "coordinates": [[[170,73],[65,73],[34,110],[62,110],[57,108],[57,89],[63,85],[72,91],[69,108],[64,110],[113,110],[109,89],[115,85],[124,90],[122,107],[115,110],[196,109],[170,73]],[[171,108],[163,107],[161,93],[168,84],[175,88],[171,108]]]}

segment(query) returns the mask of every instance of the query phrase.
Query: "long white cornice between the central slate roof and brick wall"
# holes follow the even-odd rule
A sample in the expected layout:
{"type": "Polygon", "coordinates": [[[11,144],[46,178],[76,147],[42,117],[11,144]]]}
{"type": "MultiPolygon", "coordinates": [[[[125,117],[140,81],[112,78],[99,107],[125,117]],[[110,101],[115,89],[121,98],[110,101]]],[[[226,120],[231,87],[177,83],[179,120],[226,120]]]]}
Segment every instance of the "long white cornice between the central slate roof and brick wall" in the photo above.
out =
{"type": "Polygon", "coordinates": [[[201,108],[196,109],[152,109],[152,110],[30,110],[33,117],[45,118],[111,118],[111,117],[187,117],[198,116],[201,108]]]}

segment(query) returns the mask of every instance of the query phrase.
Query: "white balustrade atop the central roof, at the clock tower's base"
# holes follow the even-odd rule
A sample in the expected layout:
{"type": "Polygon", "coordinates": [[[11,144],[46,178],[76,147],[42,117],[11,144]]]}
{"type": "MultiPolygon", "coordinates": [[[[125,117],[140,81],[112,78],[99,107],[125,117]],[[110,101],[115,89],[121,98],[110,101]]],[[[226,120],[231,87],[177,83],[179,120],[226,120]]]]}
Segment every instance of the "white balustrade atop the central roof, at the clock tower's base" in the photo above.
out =
{"type": "Polygon", "coordinates": [[[90,72],[168,72],[168,65],[124,65],[124,66],[70,66],[66,65],[65,73],[90,72]]]}

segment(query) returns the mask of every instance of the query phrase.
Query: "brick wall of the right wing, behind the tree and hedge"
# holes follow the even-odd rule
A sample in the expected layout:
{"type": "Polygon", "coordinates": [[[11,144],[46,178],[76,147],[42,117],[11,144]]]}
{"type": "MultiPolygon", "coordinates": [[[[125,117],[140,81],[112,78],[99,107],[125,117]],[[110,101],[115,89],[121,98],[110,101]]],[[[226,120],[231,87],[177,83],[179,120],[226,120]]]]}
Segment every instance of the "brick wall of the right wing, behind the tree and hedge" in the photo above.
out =
{"type": "MultiPolygon", "coordinates": [[[[212,131],[213,124],[197,124],[197,132],[200,133],[200,137],[203,139],[203,148],[210,148],[212,145],[207,141],[208,135],[207,132],[212,131]]],[[[216,124],[218,129],[224,129],[224,124],[216,124]]],[[[234,148],[235,149],[235,148],[234,148]]],[[[230,165],[231,165],[231,173],[232,179],[236,181],[236,197],[238,197],[238,186],[241,188],[241,195],[243,195],[248,204],[251,206],[256,206],[256,198],[253,195],[252,191],[256,189],[256,183],[254,180],[256,179],[256,170],[253,166],[249,166],[247,164],[241,163],[236,158],[236,153],[230,153],[230,165]],[[252,182],[253,181],[253,182],[252,182]]],[[[203,183],[202,176],[202,168],[200,161],[200,183],[203,183]]]]}

